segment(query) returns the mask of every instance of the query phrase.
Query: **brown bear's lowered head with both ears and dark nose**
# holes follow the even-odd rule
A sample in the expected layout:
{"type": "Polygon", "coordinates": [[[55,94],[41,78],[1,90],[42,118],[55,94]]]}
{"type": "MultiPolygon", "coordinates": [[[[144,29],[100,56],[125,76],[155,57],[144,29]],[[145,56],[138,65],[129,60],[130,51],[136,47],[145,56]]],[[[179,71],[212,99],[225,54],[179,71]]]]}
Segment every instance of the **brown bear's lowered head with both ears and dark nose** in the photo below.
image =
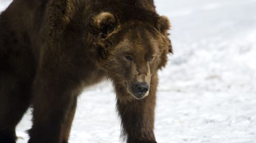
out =
{"type": "Polygon", "coordinates": [[[148,96],[151,85],[157,84],[151,82],[152,78],[172,53],[169,20],[154,11],[137,12],[104,11],[92,20],[90,37],[100,57],[98,63],[113,81],[118,98],[148,96]]]}

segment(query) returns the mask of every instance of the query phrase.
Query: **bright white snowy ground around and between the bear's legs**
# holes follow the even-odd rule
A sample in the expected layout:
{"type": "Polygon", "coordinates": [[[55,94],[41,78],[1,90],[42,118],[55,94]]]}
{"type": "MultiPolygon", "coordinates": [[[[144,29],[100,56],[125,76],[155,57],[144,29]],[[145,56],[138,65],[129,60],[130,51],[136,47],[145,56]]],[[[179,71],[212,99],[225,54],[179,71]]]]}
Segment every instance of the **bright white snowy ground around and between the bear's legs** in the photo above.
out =
{"type": "MultiPolygon", "coordinates": [[[[9,0],[0,0],[3,10],[9,0]]],[[[175,54],[160,73],[155,135],[159,143],[256,142],[256,1],[156,0],[172,21],[175,54]]],[[[30,114],[16,131],[31,125],[30,114]]],[[[70,142],[118,143],[109,83],[82,93],[70,142]]]]}

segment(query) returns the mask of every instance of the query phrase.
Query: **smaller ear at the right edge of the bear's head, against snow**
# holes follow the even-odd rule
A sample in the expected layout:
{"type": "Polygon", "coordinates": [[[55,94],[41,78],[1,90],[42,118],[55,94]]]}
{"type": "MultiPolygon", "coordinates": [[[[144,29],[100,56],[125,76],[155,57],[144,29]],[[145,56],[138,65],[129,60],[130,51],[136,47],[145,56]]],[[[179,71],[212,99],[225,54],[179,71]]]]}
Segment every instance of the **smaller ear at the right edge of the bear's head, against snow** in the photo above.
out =
{"type": "Polygon", "coordinates": [[[166,16],[160,16],[156,23],[156,28],[162,34],[168,34],[168,30],[171,28],[171,23],[166,16]]]}

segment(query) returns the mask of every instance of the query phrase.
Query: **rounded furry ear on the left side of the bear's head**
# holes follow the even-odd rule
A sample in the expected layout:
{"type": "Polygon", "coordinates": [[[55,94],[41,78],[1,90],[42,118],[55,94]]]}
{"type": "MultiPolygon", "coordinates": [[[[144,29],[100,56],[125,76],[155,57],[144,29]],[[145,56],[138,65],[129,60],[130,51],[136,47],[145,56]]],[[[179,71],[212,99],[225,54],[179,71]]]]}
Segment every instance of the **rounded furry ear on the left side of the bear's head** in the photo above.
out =
{"type": "Polygon", "coordinates": [[[115,17],[110,12],[101,12],[93,18],[92,26],[94,31],[100,34],[101,38],[106,38],[114,30],[115,17]]]}

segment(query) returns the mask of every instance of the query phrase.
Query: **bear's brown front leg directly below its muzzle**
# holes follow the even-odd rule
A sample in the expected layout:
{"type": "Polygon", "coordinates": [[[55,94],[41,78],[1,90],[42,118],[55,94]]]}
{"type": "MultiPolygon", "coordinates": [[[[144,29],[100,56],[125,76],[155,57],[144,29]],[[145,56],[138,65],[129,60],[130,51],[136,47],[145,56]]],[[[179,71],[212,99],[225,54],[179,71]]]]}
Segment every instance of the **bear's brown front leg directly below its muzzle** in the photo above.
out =
{"type": "Polygon", "coordinates": [[[119,99],[120,96],[118,97],[117,109],[121,116],[123,136],[127,137],[127,143],[156,143],[154,118],[157,83],[158,77],[152,77],[150,93],[143,99],[125,102],[119,99]]]}

